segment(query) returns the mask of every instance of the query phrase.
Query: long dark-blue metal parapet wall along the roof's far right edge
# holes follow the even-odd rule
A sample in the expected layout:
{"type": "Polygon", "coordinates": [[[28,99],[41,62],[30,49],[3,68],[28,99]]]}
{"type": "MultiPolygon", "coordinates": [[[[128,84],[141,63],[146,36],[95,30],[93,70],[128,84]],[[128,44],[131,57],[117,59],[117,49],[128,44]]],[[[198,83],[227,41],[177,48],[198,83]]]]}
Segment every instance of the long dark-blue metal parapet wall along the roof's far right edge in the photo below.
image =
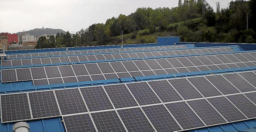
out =
{"type": "Polygon", "coordinates": [[[256,44],[243,43],[192,43],[192,42],[178,42],[177,45],[194,44],[196,47],[213,47],[213,46],[230,46],[239,45],[244,50],[256,50],[256,44]]]}

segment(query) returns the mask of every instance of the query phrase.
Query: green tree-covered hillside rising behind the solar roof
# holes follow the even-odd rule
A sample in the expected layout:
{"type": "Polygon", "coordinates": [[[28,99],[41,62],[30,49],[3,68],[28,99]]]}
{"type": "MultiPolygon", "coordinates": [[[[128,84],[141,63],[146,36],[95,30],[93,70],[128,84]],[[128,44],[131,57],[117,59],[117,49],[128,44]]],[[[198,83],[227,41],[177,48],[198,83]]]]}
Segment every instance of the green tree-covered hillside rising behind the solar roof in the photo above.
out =
{"type": "Polygon", "coordinates": [[[179,0],[178,5],[171,9],[138,8],[128,16],[120,14],[105,24],[82,28],[73,38],[67,32],[57,34],[55,44],[42,38],[38,44],[45,43],[45,48],[72,47],[76,41],[78,46],[121,44],[122,31],[124,44],[154,43],[155,37],[163,36],[180,36],[180,41],[185,42],[256,43],[256,0],[231,1],[229,8],[218,13],[202,0],[179,0]]]}

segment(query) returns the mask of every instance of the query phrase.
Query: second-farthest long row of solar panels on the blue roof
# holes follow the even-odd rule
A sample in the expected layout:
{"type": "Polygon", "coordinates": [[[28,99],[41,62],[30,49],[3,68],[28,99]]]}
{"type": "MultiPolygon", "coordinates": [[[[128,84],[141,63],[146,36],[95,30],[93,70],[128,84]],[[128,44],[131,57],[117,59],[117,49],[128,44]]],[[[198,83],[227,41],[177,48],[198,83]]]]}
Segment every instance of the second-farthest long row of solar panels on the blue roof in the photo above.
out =
{"type": "MultiPolygon", "coordinates": [[[[22,65],[45,65],[45,64],[59,64],[70,62],[84,62],[84,61],[104,61],[116,59],[129,59],[129,58],[146,58],[146,57],[163,57],[172,55],[191,55],[187,51],[193,51],[195,54],[209,54],[209,53],[229,53],[234,52],[230,47],[226,48],[206,48],[206,49],[188,49],[177,51],[150,51],[150,52],[137,52],[137,53],[118,53],[118,54],[103,54],[103,55],[80,55],[80,56],[67,56],[67,57],[51,57],[51,58],[34,58],[22,60],[6,60],[1,61],[2,67],[22,66],[22,65]],[[217,49],[224,49],[225,51],[218,52],[217,49]],[[210,51],[209,51],[210,50],[210,51]],[[186,51],[186,52],[184,52],[186,51]],[[198,52],[200,51],[200,52],[198,52]]],[[[186,60],[185,60],[186,61],[186,60]]],[[[236,62],[236,61],[235,61],[236,62]]]]}

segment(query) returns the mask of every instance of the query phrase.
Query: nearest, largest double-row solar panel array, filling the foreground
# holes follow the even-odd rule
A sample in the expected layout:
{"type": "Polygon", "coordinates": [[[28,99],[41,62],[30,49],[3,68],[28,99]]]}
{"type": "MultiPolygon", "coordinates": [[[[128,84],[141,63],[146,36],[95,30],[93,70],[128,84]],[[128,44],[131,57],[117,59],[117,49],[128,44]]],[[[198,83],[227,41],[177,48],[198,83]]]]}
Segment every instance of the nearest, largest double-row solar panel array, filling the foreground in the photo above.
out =
{"type": "Polygon", "coordinates": [[[7,123],[62,116],[67,131],[183,131],[255,119],[255,78],[249,71],[4,94],[1,117],[7,123]]]}

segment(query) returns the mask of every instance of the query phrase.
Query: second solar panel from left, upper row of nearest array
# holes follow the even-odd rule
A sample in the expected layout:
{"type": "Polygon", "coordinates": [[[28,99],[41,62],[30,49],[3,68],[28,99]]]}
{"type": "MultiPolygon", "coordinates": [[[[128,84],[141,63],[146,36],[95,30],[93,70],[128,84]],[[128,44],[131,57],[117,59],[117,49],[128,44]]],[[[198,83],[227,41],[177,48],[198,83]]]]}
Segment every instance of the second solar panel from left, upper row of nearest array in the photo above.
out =
{"type": "Polygon", "coordinates": [[[29,101],[33,118],[60,115],[53,91],[30,92],[29,101]]]}

